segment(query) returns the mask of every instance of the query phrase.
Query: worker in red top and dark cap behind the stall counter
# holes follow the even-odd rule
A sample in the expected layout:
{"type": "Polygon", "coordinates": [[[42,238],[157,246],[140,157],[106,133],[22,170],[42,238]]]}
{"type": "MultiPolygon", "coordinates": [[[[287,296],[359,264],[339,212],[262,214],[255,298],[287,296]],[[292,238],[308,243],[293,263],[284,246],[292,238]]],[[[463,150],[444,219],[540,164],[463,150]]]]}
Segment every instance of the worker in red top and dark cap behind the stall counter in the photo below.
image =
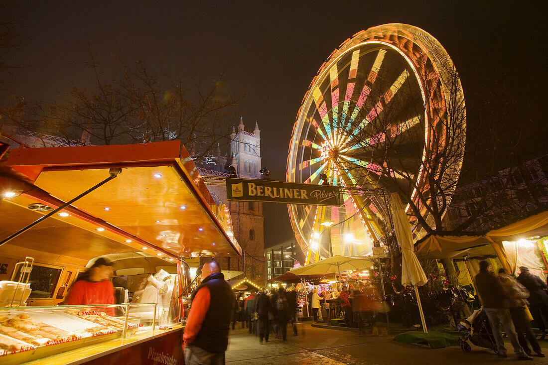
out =
{"type": "MultiPolygon", "coordinates": [[[[87,271],[78,276],[72,284],[63,305],[96,305],[113,304],[114,288],[109,281],[112,275],[113,264],[105,259],[98,258],[87,271]]],[[[114,308],[96,308],[109,316],[114,316],[114,308]]]]}

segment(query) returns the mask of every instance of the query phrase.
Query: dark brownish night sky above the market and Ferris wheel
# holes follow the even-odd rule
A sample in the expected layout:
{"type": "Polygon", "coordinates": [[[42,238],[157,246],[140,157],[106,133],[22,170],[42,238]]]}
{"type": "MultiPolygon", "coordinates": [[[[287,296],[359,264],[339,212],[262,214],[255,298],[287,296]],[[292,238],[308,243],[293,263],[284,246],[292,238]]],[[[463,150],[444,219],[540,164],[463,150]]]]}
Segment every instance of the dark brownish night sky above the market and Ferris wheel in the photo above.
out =
{"type": "MultiPolygon", "coordinates": [[[[346,38],[389,22],[423,28],[447,49],[463,81],[471,128],[481,113],[476,101],[489,97],[478,95],[479,76],[503,74],[510,93],[534,101],[507,113],[505,125],[532,123],[540,133],[531,138],[546,140],[544,2],[29,3],[23,18],[28,42],[16,59],[31,66],[15,80],[13,93],[48,101],[71,82],[84,85],[90,77],[86,43],[106,65],[110,52],[126,61],[138,55],[167,73],[196,71],[204,83],[226,70],[231,92],[249,90],[244,123],[253,128],[258,121],[262,167],[273,180],[285,179],[296,113],[319,66],[346,38]]],[[[293,235],[286,206],[265,204],[265,212],[267,246],[293,235]]]]}

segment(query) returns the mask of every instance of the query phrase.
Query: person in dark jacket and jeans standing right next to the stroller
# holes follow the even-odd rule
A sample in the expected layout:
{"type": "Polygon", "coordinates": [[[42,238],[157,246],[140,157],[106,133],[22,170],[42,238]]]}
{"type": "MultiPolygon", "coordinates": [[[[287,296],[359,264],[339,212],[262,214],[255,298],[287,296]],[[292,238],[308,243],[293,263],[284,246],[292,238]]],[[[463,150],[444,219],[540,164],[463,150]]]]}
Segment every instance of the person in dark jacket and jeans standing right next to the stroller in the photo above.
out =
{"type": "Polygon", "coordinates": [[[508,310],[508,304],[505,301],[506,295],[503,286],[498,277],[493,273],[493,267],[486,260],[479,261],[479,272],[475,277],[475,282],[476,289],[483,301],[483,310],[487,318],[489,318],[489,323],[493,329],[498,356],[507,357],[503,333],[500,330],[500,325],[502,324],[518,360],[533,360],[532,357],[523,352],[520,346],[516,330],[512,323],[512,317],[508,310]]]}

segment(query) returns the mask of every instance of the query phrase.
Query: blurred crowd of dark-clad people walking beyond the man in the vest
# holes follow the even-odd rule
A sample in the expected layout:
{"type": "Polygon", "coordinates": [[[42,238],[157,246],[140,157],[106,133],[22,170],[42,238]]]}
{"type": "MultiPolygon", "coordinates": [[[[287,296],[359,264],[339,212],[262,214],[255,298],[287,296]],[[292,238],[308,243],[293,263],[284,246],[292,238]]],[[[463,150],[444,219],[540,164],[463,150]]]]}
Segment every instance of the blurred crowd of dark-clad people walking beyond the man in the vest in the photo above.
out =
{"type": "Polygon", "coordinates": [[[291,323],[293,335],[297,335],[297,293],[284,288],[270,293],[258,292],[236,300],[232,311],[232,329],[241,322],[250,334],[259,337],[259,343],[269,342],[270,334],[287,341],[287,326],[291,323]]]}

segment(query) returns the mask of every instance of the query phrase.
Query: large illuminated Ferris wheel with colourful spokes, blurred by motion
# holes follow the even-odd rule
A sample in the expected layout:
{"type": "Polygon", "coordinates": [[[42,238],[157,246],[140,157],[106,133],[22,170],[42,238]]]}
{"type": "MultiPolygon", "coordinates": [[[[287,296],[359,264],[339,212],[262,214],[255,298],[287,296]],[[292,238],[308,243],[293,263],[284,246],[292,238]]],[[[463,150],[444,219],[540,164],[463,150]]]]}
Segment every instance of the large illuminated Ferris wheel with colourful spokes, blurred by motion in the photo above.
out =
{"type": "MultiPolygon", "coordinates": [[[[369,28],[329,56],[299,109],[287,181],[339,185],[343,204],[289,206],[306,263],[372,252],[373,241],[383,235],[386,205],[361,190],[382,188],[418,199],[427,187],[424,167],[432,151],[449,144],[464,149],[464,135],[454,143],[446,128],[453,115],[448,109],[456,104],[464,129],[464,96],[453,62],[420,28],[369,28]]],[[[460,167],[461,161],[453,162],[442,184],[458,178],[460,167]]]]}

